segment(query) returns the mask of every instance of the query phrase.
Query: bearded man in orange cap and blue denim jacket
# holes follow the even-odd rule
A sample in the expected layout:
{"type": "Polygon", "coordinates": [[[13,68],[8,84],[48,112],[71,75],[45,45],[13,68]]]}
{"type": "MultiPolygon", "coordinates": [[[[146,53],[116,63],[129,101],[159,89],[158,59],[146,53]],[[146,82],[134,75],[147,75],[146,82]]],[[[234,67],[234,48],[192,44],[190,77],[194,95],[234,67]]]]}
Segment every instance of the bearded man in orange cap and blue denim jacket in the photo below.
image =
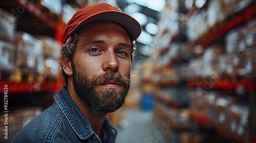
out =
{"type": "Polygon", "coordinates": [[[109,4],[78,10],[61,49],[66,86],[11,142],[115,142],[117,131],[105,115],[124,102],[140,33],[138,21],[109,4]]]}

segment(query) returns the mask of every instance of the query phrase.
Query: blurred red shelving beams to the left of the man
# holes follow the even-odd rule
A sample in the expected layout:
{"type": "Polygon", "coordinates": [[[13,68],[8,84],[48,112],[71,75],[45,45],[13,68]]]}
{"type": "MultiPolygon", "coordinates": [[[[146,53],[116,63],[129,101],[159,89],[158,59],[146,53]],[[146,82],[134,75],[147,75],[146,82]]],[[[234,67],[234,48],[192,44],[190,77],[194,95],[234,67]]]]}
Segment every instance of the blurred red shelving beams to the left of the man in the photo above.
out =
{"type": "MultiPolygon", "coordinates": [[[[47,8],[42,6],[38,1],[22,1],[22,0],[12,0],[12,1],[2,1],[1,8],[9,11],[14,17],[19,18],[17,22],[17,30],[22,30],[24,32],[28,32],[32,35],[47,35],[55,38],[58,41],[61,41],[62,38],[62,29],[65,27],[65,23],[63,23],[61,19],[61,15],[55,15],[51,13],[47,8]],[[23,19],[31,21],[33,23],[33,27],[29,27],[30,22],[25,21],[23,19]],[[26,26],[28,25],[28,27],[26,26]]],[[[28,73],[22,73],[21,76],[26,77],[28,73]]],[[[31,73],[35,74],[35,73],[31,73]]],[[[6,74],[4,76],[11,76],[10,74],[6,74]]],[[[36,75],[34,75],[36,76],[36,75]]],[[[43,83],[38,83],[34,81],[26,81],[27,79],[23,79],[22,81],[9,81],[8,77],[3,77],[1,79],[1,85],[7,84],[9,85],[9,92],[19,93],[19,92],[46,92],[46,91],[55,91],[57,81],[47,81],[43,83]]],[[[4,86],[1,86],[2,89],[4,86]]],[[[3,91],[3,90],[2,90],[3,91]]]]}

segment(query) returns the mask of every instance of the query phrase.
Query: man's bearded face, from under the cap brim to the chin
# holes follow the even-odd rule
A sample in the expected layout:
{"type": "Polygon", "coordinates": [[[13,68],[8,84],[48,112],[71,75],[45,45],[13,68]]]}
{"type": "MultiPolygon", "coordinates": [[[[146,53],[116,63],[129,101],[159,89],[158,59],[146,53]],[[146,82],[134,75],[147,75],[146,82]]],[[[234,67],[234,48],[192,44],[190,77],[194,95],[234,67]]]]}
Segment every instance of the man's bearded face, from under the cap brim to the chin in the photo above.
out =
{"type": "Polygon", "coordinates": [[[72,63],[77,96],[94,112],[114,112],[130,87],[131,44],[127,32],[113,22],[82,29],[72,63]]]}

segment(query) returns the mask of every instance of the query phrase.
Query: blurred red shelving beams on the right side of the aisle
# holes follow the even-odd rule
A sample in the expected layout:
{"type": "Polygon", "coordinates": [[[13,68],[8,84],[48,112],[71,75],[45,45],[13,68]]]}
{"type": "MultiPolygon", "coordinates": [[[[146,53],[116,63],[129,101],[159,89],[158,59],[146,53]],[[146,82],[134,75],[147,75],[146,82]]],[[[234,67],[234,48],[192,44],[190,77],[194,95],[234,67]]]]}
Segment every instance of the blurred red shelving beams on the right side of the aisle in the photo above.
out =
{"type": "MultiPolygon", "coordinates": [[[[209,1],[206,1],[205,5],[203,7],[207,7],[207,3],[209,1]]],[[[217,22],[213,27],[211,27],[208,32],[200,36],[195,41],[190,41],[188,42],[188,51],[191,55],[194,57],[200,57],[201,55],[197,55],[198,53],[196,52],[198,47],[201,47],[202,51],[205,51],[207,49],[207,46],[209,46],[212,43],[218,43],[222,39],[224,39],[224,36],[226,33],[228,33],[230,30],[244,25],[248,21],[252,20],[253,18],[256,17],[256,5],[255,2],[253,1],[246,1],[248,4],[243,5],[243,6],[237,6],[234,7],[232,10],[233,13],[230,13],[224,20],[217,22]]],[[[202,9],[192,9],[191,11],[197,11],[197,12],[188,12],[188,14],[194,13],[198,14],[202,9]]],[[[190,15],[191,16],[191,15],[190,15]]],[[[179,35],[179,34],[178,34],[179,35]]],[[[177,40],[176,38],[172,38],[170,43],[173,43],[177,40]]],[[[221,41],[223,42],[223,41],[221,41]]],[[[222,43],[224,44],[224,43],[222,43]]],[[[160,48],[160,54],[159,57],[166,56],[166,53],[168,52],[168,48],[170,49],[171,47],[164,47],[160,48]]],[[[187,57],[189,60],[190,57],[187,57]]],[[[183,59],[182,59],[183,60],[183,59]]],[[[167,62],[167,64],[162,65],[161,67],[158,67],[158,70],[155,71],[156,74],[161,75],[161,70],[163,68],[175,68],[176,65],[179,65],[181,61],[181,58],[179,56],[177,57],[171,57],[170,60],[167,62]]],[[[183,61],[185,63],[187,61],[183,61]]],[[[222,73],[223,74],[223,73],[222,73]]],[[[165,88],[173,88],[177,85],[180,84],[181,81],[171,81],[168,79],[162,79],[162,81],[158,81],[156,85],[158,85],[158,90],[165,89],[165,88]]],[[[232,93],[233,89],[242,86],[243,88],[247,89],[249,94],[248,94],[248,104],[250,107],[250,115],[249,115],[249,122],[250,122],[250,137],[249,142],[256,142],[256,128],[255,128],[255,121],[256,117],[253,113],[256,111],[255,107],[255,89],[256,89],[256,82],[255,78],[253,75],[246,75],[246,76],[238,76],[238,75],[226,75],[223,74],[221,78],[219,79],[211,79],[211,77],[201,77],[201,78],[194,78],[194,77],[187,77],[185,79],[184,83],[187,85],[187,88],[189,90],[197,90],[200,88],[201,92],[208,92],[208,91],[222,91],[225,94],[230,94],[232,93]],[[211,81],[210,81],[211,80],[211,81]],[[210,86],[210,87],[207,87],[210,86]]],[[[164,121],[171,120],[170,118],[166,117],[164,111],[168,111],[169,108],[174,108],[174,109],[181,109],[179,106],[179,103],[174,102],[170,98],[166,98],[164,96],[161,96],[158,92],[155,93],[155,100],[156,100],[156,108],[155,108],[155,114],[157,120],[160,120],[163,118],[164,121]],[[161,105],[161,108],[159,107],[161,105]],[[161,111],[159,111],[161,110],[161,111]],[[159,116],[159,117],[158,117],[159,116]],[[163,117],[165,116],[165,117],[163,117]]],[[[234,142],[244,142],[245,140],[234,136],[233,134],[228,133],[226,130],[223,130],[221,127],[214,127],[214,125],[211,121],[208,120],[207,113],[203,110],[191,110],[190,111],[191,118],[200,125],[203,125],[207,128],[214,128],[215,132],[219,134],[220,136],[225,137],[229,141],[234,141],[234,142]]],[[[158,121],[160,122],[160,121],[158,121]]],[[[176,128],[174,128],[176,129],[176,128]]]]}

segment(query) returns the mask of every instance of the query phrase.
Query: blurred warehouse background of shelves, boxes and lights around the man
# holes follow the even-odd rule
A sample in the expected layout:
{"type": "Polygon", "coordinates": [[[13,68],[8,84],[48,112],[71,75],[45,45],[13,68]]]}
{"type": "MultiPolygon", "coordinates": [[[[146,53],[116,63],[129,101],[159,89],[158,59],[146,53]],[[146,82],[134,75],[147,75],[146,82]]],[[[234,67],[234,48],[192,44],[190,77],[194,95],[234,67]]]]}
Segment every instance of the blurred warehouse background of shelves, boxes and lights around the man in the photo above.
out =
{"type": "MultiPolygon", "coordinates": [[[[65,84],[63,29],[80,8],[105,2],[142,33],[117,142],[256,142],[256,2],[252,0],[1,0],[0,93],[8,85],[8,142],[65,84]]],[[[3,96],[2,96],[3,95],[3,96]]]]}

